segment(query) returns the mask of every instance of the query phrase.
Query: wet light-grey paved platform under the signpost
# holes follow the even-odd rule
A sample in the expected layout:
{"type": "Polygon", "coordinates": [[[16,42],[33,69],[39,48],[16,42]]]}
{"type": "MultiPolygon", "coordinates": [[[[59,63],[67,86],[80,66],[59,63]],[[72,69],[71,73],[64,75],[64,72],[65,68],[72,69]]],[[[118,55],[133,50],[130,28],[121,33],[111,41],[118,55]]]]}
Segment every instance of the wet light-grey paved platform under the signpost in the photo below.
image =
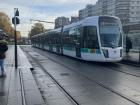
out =
{"type": "Polygon", "coordinates": [[[18,47],[18,69],[14,67],[14,46],[5,59],[6,77],[0,77],[0,105],[46,105],[32,76],[32,68],[18,47]]]}

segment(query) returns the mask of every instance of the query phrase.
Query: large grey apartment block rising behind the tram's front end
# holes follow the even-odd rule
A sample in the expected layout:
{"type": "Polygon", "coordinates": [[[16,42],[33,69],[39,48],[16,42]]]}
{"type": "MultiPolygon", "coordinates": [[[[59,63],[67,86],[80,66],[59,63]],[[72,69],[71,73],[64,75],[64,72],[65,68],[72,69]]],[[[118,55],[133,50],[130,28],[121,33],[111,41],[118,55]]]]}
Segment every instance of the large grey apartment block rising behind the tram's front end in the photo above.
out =
{"type": "Polygon", "coordinates": [[[79,10],[79,19],[99,15],[117,16],[123,25],[140,22],[140,0],[98,0],[79,10]]]}

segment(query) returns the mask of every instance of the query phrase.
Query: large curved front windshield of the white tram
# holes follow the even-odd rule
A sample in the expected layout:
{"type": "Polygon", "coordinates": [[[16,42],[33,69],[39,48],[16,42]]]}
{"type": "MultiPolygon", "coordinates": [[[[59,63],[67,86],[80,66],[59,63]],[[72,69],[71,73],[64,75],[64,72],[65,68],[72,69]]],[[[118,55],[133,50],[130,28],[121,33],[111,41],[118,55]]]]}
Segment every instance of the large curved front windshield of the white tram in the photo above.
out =
{"type": "Polygon", "coordinates": [[[100,40],[102,47],[121,47],[122,34],[119,20],[112,17],[101,17],[99,19],[100,40]]]}

